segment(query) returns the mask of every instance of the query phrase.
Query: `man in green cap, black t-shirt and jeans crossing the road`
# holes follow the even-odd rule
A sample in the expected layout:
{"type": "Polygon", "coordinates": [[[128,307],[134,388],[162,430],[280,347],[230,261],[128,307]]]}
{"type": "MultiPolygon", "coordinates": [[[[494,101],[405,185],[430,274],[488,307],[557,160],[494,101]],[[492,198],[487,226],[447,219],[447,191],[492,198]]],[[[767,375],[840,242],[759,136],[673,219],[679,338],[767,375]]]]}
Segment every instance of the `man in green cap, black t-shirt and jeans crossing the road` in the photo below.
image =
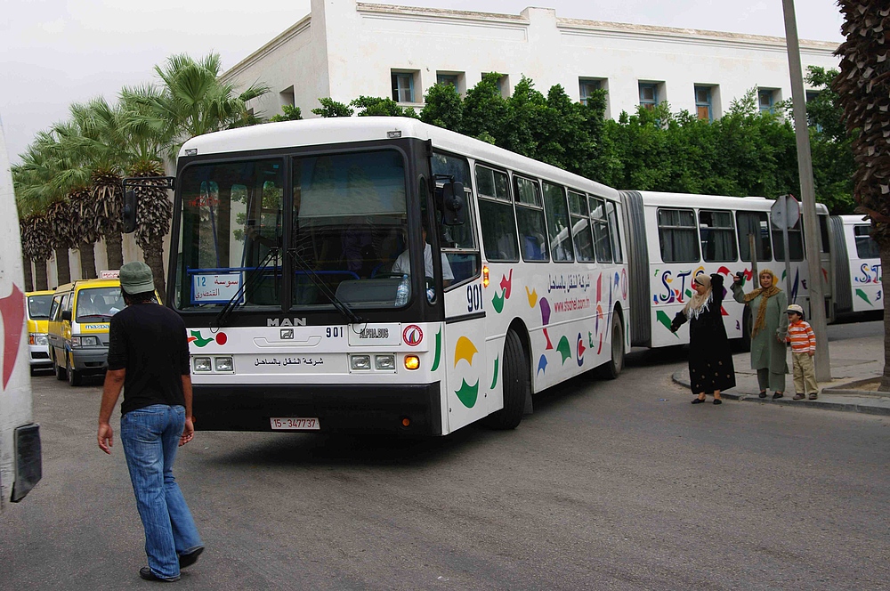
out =
{"type": "Polygon", "coordinates": [[[120,268],[126,308],[111,318],[108,373],[99,410],[99,447],[111,453],[111,411],[121,387],[120,439],[145,530],[149,565],[142,579],[179,580],[204,545],[173,475],[176,448],[194,437],[185,324],[154,299],[145,263],[120,268]]]}

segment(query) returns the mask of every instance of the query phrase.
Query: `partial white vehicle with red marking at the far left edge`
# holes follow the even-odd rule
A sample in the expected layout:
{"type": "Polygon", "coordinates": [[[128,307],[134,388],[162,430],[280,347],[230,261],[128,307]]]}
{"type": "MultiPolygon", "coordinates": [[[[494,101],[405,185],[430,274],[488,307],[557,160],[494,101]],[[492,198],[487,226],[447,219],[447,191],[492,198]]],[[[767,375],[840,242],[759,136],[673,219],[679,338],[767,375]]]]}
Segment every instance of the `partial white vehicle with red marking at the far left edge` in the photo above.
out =
{"type": "Polygon", "coordinates": [[[0,374],[0,507],[20,501],[41,476],[40,427],[31,418],[31,378],[19,215],[0,123],[0,323],[3,354],[0,374]]]}

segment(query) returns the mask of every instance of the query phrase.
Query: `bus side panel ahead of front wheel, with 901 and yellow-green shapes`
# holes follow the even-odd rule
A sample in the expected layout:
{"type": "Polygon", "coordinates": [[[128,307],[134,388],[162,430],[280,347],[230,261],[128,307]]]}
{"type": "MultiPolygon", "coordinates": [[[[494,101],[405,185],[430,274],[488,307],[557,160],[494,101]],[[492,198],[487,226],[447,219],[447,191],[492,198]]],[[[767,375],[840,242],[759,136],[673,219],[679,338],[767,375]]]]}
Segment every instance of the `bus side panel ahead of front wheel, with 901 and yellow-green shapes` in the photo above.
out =
{"type": "MultiPolygon", "coordinates": [[[[482,299],[481,257],[478,233],[473,224],[470,199],[465,194],[465,221],[460,225],[439,224],[442,263],[442,294],[445,324],[442,362],[445,364],[444,392],[448,432],[485,417],[500,408],[498,361],[486,352],[486,314],[490,303],[482,299]],[[496,401],[497,398],[497,401],[496,401]]],[[[437,216],[441,221],[441,216],[437,216]]]]}

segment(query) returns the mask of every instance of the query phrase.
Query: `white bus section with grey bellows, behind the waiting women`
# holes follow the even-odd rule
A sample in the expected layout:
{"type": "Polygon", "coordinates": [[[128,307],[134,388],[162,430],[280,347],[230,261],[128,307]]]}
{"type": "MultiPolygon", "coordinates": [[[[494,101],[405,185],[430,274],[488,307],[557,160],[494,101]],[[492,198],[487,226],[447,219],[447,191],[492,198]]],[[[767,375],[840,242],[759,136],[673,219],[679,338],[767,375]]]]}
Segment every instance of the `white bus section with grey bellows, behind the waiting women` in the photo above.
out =
{"type": "MultiPolygon", "coordinates": [[[[751,318],[746,306],[732,299],[732,275],[745,273],[752,289],[753,235],[757,270],[770,269],[787,289],[782,231],[772,222],[772,199],[720,197],[654,191],[621,191],[627,225],[631,296],[631,344],[665,347],[689,342],[688,328],[676,334],[670,322],[692,296],[692,278],[700,272],[724,275],[723,314],[726,334],[750,344],[751,318]]],[[[826,310],[833,309],[832,261],[829,258],[828,209],[817,204],[821,269],[826,310]]],[[[809,272],[805,261],[803,220],[789,230],[791,281],[788,300],[801,304],[809,317],[809,272]]],[[[830,318],[830,313],[829,313],[830,318]]]]}

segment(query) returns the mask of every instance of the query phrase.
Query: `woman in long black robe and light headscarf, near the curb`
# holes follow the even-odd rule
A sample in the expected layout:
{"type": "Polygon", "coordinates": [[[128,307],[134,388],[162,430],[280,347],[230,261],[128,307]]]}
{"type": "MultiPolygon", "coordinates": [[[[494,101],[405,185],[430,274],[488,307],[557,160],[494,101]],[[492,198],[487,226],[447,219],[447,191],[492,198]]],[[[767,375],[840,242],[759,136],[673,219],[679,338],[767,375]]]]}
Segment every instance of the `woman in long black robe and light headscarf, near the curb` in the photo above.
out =
{"type": "Polygon", "coordinates": [[[700,273],[692,279],[695,295],[676,313],[670,326],[671,332],[676,332],[689,321],[689,382],[692,393],[697,394],[692,404],[704,402],[706,394],[713,394],[714,403],[722,404],[720,392],[735,386],[732,352],[720,312],[723,279],[719,273],[710,277],[700,273]]]}

